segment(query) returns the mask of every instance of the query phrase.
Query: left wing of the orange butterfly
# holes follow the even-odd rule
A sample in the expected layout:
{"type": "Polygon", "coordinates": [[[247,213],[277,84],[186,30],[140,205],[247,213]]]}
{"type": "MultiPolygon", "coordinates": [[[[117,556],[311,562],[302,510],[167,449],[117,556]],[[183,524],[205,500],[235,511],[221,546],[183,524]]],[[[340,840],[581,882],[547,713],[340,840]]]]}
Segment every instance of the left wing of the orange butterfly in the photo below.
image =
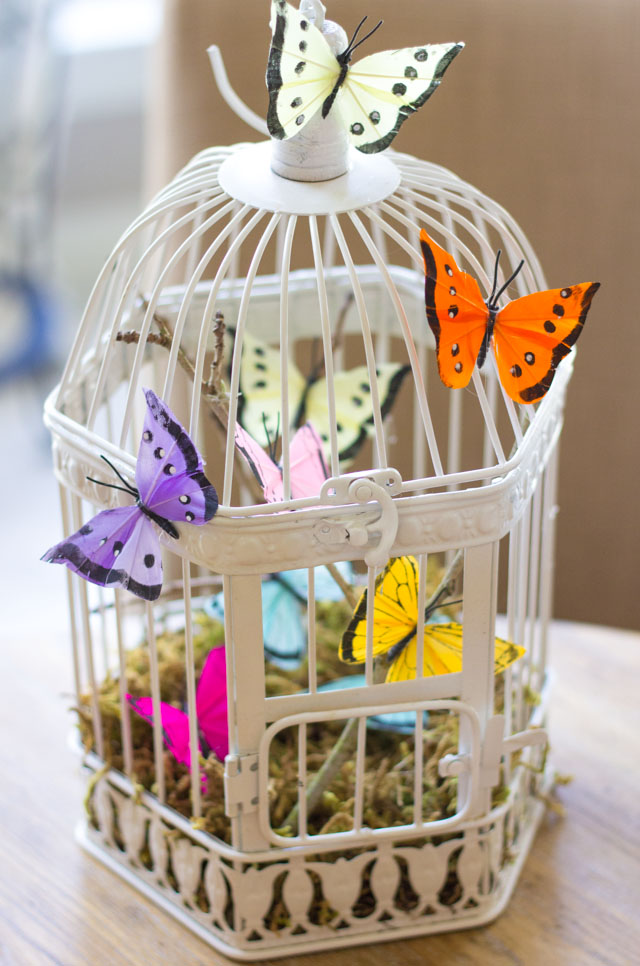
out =
{"type": "Polygon", "coordinates": [[[461,389],[471,379],[487,330],[489,310],[475,278],[453,255],[420,232],[427,321],[436,340],[438,371],[445,386],[461,389]]]}

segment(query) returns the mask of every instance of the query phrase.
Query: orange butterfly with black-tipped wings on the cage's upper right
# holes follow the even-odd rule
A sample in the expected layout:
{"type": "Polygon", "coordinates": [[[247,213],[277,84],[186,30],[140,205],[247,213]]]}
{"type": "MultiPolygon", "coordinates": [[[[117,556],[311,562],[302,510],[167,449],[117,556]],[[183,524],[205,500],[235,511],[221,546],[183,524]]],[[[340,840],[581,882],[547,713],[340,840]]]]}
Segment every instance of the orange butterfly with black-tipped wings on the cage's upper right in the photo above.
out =
{"type": "Polygon", "coordinates": [[[491,295],[485,301],[475,278],[462,272],[455,259],[424,229],[420,232],[426,274],[427,320],[436,339],[440,378],[450,389],[461,389],[486,359],[489,345],[500,382],[515,402],[542,399],[558,363],[582,332],[599,282],[534,292],[498,308],[498,300],[524,261],[499,291],[498,261],[491,295]]]}

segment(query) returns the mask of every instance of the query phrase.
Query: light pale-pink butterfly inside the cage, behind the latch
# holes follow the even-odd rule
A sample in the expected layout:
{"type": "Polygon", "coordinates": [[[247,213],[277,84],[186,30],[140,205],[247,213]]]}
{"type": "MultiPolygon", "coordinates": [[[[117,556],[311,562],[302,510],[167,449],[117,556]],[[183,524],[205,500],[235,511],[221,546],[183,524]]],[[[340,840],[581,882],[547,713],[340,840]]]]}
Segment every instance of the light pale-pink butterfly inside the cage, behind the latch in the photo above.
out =
{"type": "MultiPolygon", "coordinates": [[[[267,503],[279,503],[283,500],[282,468],[278,463],[265,453],[239,423],[236,425],[235,441],[262,487],[267,503]]],[[[329,470],[324,461],[322,440],[311,423],[305,423],[294,434],[289,447],[289,457],[291,499],[317,496],[329,476],[329,470]]]]}

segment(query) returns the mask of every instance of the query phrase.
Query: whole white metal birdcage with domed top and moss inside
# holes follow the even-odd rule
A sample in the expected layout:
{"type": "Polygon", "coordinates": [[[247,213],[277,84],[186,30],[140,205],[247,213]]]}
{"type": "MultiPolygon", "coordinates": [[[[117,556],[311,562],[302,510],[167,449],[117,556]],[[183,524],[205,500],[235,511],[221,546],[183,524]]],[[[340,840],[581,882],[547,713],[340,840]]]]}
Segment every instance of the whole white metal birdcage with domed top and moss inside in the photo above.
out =
{"type": "MultiPolygon", "coordinates": [[[[305,143],[306,157],[292,162],[300,177],[317,156],[305,143]]],[[[521,230],[480,191],[398,153],[350,155],[347,173],[317,183],[280,177],[270,157],[269,142],[212,148],[153,199],[100,274],[46,407],[65,533],[95,506],[125,502],[87,478],[105,478],[104,455],[133,479],[142,386],[197,441],[218,489],[209,523],[182,527],[178,540],[161,535],[165,581],[157,601],[68,574],[77,701],[87,709],[85,761],[97,776],[80,837],[213,946],[242,959],[479,925],[504,908],[543,807],[557,443],[571,372],[567,360],[535,406],[511,401],[492,359],[469,391],[441,385],[425,318],[421,228],[487,290],[498,248],[505,278],[525,260],[518,294],[544,287],[521,230]],[[223,342],[228,367],[221,369],[223,342]],[[242,475],[234,430],[252,387],[241,361],[243,348],[256,345],[279,354],[281,373],[291,373],[294,360],[299,371],[324,373],[329,478],[319,495],[290,498],[299,375],[277,387],[283,499],[261,503],[242,475]],[[409,367],[393,405],[376,376],[385,363],[394,372],[409,367]],[[358,365],[368,373],[370,417],[355,459],[345,460],[340,374],[358,365]],[[323,688],[317,568],[336,573],[334,565],[355,563],[352,580],[367,588],[371,628],[376,576],[390,557],[409,554],[419,570],[416,677],[380,682],[369,630],[364,678],[323,688]],[[440,573],[448,568],[452,580],[461,569],[463,662],[455,673],[421,670],[428,560],[441,564],[440,573]],[[274,690],[274,674],[265,673],[263,586],[268,575],[298,569],[308,573],[308,601],[299,610],[305,680],[287,690],[278,678],[274,690]],[[198,614],[221,588],[227,836],[207,831],[194,663],[198,614]],[[499,703],[496,621],[526,648],[500,676],[499,703]],[[190,779],[182,777],[186,815],[172,807],[159,714],[161,642],[171,634],[184,640],[193,763],[190,779]],[[126,700],[128,662],[141,642],[136,660],[147,662],[154,708],[146,789],[126,700]],[[101,700],[105,681],[115,688],[115,731],[101,700]],[[384,768],[377,778],[371,773],[376,732],[368,726],[399,712],[409,712],[411,726],[386,732],[384,741],[395,760],[391,777],[401,776],[394,787],[403,818],[376,824],[384,768]],[[445,719],[459,737],[436,753],[429,721],[445,719]],[[318,828],[307,798],[318,754],[307,746],[323,728],[337,744],[342,734],[346,754],[338,764],[349,794],[341,817],[318,828]],[[288,743],[289,806],[297,804],[284,828],[274,811],[278,742],[288,743]],[[429,789],[447,781],[447,813],[429,811],[429,789]]],[[[275,364],[278,356],[269,358],[275,364]]]]}

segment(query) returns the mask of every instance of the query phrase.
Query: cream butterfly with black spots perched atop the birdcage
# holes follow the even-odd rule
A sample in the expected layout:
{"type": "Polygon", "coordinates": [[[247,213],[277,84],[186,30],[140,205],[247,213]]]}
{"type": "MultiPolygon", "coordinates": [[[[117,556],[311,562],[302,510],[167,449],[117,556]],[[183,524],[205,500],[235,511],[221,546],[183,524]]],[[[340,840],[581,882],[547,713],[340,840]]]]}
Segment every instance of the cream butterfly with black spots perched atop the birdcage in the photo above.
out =
{"type": "Polygon", "coordinates": [[[274,138],[292,137],[318,112],[326,117],[330,110],[339,110],[359,151],[384,151],[400,125],[431,97],[464,47],[462,43],[424,44],[383,50],[351,67],[353,51],[374,32],[356,42],[364,20],[347,49],[336,56],[309,17],[286,0],[273,0],[267,126],[274,138]]]}

